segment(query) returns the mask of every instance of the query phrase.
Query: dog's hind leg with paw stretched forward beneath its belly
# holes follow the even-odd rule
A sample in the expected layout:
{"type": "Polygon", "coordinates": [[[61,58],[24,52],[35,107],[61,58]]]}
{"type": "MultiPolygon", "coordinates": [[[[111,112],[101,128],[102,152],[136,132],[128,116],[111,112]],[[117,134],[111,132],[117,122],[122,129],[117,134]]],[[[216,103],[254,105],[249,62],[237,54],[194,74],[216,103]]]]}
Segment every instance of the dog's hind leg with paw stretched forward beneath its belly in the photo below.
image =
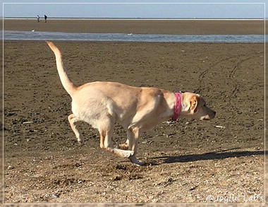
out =
{"type": "Polygon", "coordinates": [[[100,147],[111,153],[118,155],[121,158],[130,158],[134,154],[134,151],[131,150],[121,150],[114,148],[111,143],[111,135],[113,134],[114,129],[114,119],[106,118],[102,119],[102,124],[99,126],[99,135],[100,135],[100,147]]]}

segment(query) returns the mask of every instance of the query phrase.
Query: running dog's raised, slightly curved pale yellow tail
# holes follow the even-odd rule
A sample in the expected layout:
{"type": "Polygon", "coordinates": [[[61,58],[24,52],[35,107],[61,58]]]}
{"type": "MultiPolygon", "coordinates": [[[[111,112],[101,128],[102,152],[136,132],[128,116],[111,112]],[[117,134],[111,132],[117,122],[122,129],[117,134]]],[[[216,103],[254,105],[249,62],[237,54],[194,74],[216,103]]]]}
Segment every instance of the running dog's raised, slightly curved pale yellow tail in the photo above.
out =
{"type": "Polygon", "coordinates": [[[54,45],[52,42],[46,41],[47,45],[49,45],[50,49],[54,52],[56,57],[56,68],[58,69],[59,78],[61,79],[61,83],[64,89],[67,91],[68,94],[71,96],[76,90],[76,85],[68,78],[67,73],[63,67],[63,61],[61,58],[61,52],[59,51],[58,47],[54,45]]]}

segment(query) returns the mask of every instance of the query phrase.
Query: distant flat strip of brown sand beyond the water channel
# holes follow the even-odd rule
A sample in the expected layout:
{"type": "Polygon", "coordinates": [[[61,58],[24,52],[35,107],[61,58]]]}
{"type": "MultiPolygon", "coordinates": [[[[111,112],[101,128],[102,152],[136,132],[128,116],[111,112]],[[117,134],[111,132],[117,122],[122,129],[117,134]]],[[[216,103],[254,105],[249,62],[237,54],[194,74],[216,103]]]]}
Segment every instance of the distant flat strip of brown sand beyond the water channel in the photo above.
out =
{"type": "Polygon", "coordinates": [[[4,20],[4,30],[178,35],[263,35],[264,20],[4,20]]]}

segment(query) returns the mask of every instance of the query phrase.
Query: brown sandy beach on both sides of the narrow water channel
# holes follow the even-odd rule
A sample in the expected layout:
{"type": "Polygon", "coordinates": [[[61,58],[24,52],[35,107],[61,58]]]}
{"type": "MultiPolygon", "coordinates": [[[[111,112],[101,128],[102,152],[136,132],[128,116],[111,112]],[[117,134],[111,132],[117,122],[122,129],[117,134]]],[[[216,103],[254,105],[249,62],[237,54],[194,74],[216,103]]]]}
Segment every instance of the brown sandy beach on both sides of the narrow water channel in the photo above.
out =
{"type": "MultiPolygon", "coordinates": [[[[104,21],[102,26],[91,22],[95,27],[85,23],[5,20],[4,27],[175,34],[235,34],[235,28],[240,28],[241,34],[262,34],[264,29],[262,22],[255,21],[246,26],[242,22],[201,26],[198,22],[199,28],[185,25],[183,30],[171,21],[154,26],[152,22],[146,26],[133,22],[135,30],[129,22],[118,25],[104,21]]],[[[77,85],[116,81],[174,92],[195,91],[205,97],[217,117],[209,122],[178,119],[146,131],[140,138],[138,158],[147,165],[135,167],[100,149],[99,134],[88,124],[80,127],[85,145],[77,143],[67,119],[71,98],[61,85],[54,55],[45,42],[4,41],[5,203],[216,205],[225,203],[217,198],[228,196],[236,196],[229,203],[264,202],[264,44],[55,44],[63,53],[68,76],[77,85]]],[[[126,131],[116,125],[114,146],[125,139],[126,131]]]]}

